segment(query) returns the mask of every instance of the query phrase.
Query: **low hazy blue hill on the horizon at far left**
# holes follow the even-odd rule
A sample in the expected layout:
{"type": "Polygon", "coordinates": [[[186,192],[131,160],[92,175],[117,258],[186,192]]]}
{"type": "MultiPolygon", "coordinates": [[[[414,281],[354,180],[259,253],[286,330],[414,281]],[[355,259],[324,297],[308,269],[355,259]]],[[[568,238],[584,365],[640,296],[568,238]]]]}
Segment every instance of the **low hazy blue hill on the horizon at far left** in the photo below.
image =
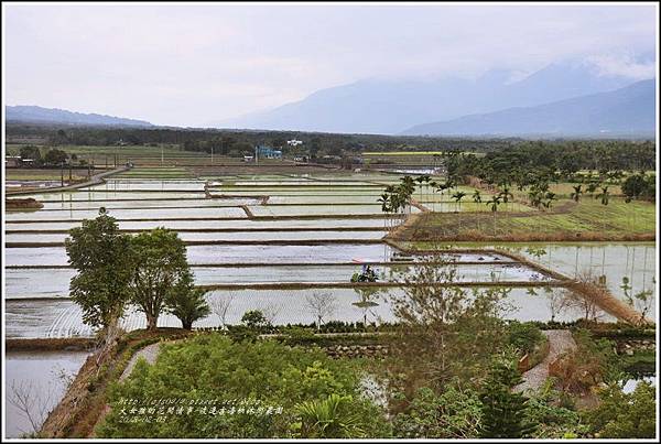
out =
{"type": "Polygon", "coordinates": [[[30,123],[59,123],[86,124],[111,127],[151,127],[144,120],[127,119],[122,117],[105,116],[97,113],[83,113],[57,108],[42,108],[36,106],[7,106],[4,107],[7,121],[21,121],[30,123]]]}

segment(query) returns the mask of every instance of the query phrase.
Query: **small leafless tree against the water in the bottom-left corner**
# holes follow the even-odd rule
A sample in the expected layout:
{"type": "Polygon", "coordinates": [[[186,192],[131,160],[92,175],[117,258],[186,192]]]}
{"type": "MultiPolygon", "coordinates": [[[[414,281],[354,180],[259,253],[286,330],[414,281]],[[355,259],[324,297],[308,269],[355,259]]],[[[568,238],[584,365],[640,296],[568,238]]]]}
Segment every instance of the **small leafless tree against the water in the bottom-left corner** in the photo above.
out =
{"type": "Polygon", "coordinates": [[[31,431],[21,430],[25,434],[36,434],[41,430],[44,421],[48,416],[51,400],[53,398],[53,386],[44,390],[43,387],[36,387],[33,380],[22,379],[13,380],[10,386],[10,393],[7,401],[15,407],[23,416],[30,422],[31,431]]]}

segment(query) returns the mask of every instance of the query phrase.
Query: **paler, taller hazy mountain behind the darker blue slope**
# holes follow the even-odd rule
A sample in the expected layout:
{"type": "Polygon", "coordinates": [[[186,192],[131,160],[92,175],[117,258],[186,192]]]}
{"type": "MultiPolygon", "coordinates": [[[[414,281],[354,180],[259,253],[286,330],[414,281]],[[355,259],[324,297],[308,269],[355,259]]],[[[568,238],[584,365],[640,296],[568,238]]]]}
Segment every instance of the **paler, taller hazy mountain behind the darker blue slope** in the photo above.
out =
{"type": "Polygon", "coordinates": [[[596,66],[575,61],[551,64],[523,78],[512,80],[513,76],[512,72],[494,69],[475,79],[365,79],[213,126],[395,134],[425,122],[534,107],[615,90],[633,82],[603,75],[596,66]]]}

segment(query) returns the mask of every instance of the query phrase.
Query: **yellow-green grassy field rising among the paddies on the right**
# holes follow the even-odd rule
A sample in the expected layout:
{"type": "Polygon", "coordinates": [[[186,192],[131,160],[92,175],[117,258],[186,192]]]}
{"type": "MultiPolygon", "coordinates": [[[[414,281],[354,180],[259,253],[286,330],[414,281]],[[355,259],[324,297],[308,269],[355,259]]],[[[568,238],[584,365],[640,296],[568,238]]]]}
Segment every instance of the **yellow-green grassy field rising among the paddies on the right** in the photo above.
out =
{"type": "Polygon", "coordinates": [[[625,203],[608,205],[595,199],[561,201],[549,212],[425,213],[413,224],[398,229],[392,238],[404,241],[575,241],[654,240],[655,205],[625,203]]]}

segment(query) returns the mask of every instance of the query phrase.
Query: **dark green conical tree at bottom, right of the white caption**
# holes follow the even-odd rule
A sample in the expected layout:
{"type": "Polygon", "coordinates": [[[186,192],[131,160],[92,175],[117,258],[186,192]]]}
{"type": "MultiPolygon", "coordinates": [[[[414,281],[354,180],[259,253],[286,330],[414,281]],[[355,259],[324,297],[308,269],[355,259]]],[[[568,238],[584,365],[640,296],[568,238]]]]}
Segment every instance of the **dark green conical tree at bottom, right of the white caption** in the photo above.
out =
{"type": "Polygon", "coordinates": [[[527,421],[527,399],[511,389],[521,376],[510,360],[497,360],[484,381],[480,437],[521,438],[534,426],[527,421]]]}

